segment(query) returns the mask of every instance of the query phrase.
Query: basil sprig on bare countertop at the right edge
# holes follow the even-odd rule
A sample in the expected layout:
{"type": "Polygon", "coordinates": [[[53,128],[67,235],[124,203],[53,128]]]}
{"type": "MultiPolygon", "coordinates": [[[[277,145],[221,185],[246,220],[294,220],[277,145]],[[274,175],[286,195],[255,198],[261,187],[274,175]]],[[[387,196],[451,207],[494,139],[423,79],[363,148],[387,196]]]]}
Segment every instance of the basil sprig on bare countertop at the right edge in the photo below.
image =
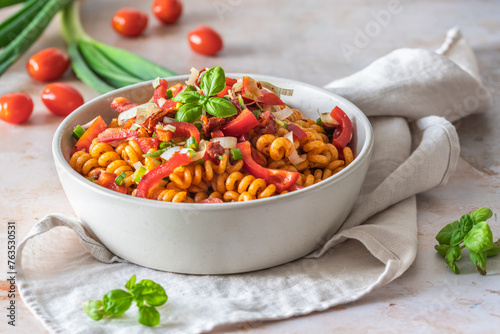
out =
{"type": "Polygon", "coordinates": [[[469,258],[481,275],[486,275],[487,258],[500,254],[500,240],[493,242],[493,234],[486,223],[492,215],[488,208],[477,209],[446,225],[436,235],[439,245],[434,248],[455,274],[460,273],[455,262],[462,257],[464,248],[469,250],[469,258]]]}

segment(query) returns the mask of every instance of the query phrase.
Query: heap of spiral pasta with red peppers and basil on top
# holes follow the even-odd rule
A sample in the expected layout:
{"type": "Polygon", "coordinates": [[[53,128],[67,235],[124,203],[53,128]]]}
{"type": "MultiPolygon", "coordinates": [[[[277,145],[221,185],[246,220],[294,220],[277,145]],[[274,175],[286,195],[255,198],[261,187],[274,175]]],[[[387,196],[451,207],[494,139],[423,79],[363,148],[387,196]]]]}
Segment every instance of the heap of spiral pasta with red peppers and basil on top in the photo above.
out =
{"type": "Polygon", "coordinates": [[[354,159],[339,106],[314,121],[283,101],[292,90],[220,67],[192,69],[185,84],[158,78],[153,89],[143,104],[116,97],[109,125],[99,116],[75,129],[77,171],[136,197],[224,203],[303,189],[354,159]]]}

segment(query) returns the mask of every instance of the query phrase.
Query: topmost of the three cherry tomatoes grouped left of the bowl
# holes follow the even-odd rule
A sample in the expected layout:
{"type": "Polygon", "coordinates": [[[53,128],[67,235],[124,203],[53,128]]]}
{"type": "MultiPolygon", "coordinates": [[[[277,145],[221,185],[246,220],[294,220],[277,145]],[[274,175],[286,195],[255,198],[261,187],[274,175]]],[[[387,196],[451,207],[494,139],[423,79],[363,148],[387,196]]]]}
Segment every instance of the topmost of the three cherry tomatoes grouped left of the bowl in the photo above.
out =
{"type": "Polygon", "coordinates": [[[66,52],[56,48],[44,49],[26,63],[26,70],[35,80],[47,82],[61,77],[68,69],[70,59],[66,52]]]}

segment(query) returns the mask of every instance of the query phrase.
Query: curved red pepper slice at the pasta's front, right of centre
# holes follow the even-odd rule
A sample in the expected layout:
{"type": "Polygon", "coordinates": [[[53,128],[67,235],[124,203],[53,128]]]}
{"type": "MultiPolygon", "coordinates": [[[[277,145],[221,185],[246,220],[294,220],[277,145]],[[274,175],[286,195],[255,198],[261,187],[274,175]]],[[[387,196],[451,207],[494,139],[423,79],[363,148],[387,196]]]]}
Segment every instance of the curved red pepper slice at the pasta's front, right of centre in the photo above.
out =
{"type": "Polygon", "coordinates": [[[290,172],[287,170],[265,168],[259,165],[252,158],[252,145],[250,142],[242,142],[236,144],[243,155],[243,167],[245,170],[255,177],[264,179],[268,184],[274,184],[277,192],[282,192],[293,186],[299,176],[299,172],[290,172]]]}

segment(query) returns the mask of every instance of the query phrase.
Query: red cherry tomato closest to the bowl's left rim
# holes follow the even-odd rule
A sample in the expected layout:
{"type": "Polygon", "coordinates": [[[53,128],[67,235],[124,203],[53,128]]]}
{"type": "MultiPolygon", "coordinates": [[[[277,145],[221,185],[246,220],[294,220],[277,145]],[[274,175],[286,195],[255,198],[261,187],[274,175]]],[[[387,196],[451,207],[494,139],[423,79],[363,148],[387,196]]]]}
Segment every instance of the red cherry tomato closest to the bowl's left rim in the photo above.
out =
{"type": "Polygon", "coordinates": [[[68,116],[83,104],[83,97],[70,85],[54,82],[43,89],[42,102],[53,114],[68,116]]]}

